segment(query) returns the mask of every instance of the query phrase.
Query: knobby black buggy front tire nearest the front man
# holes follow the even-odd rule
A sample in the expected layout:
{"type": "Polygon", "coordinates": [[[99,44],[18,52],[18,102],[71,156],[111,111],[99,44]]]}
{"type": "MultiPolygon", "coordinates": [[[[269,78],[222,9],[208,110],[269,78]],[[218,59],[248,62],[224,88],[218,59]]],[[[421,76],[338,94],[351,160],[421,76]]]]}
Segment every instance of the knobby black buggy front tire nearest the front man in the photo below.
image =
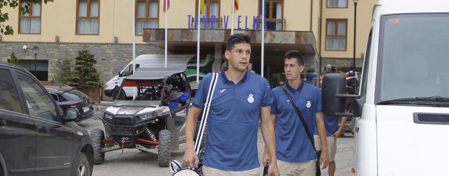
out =
{"type": "Polygon", "coordinates": [[[157,160],[160,167],[168,167],[170,164],[170,141],[171,132],[164,129],[159,132],[159,145],[157,148],[157,160]]]}

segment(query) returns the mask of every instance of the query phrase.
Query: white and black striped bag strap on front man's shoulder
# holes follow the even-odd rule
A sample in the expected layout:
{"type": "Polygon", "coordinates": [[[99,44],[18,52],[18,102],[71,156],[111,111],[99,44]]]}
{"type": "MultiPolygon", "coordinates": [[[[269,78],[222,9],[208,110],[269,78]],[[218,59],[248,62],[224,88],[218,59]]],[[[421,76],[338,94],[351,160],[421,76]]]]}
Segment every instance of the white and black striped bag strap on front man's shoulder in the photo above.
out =
{"type": "Polygon", "coordinates": [[[199,125],[197,140],[195,141],[195,153],[199,154],[201,151],[201,140],[203,140],[204,129],[206,128],[206,121],[208,120],[208,114],[210,110],[210,103],[212,102],[212,96],[214,95],[215,85],[217,85],[218,73],[212,73],[212,80],[210,80],[208,96],[206,103],[204,104],[203,115],[201,115],[201,124],[199,125]]]}

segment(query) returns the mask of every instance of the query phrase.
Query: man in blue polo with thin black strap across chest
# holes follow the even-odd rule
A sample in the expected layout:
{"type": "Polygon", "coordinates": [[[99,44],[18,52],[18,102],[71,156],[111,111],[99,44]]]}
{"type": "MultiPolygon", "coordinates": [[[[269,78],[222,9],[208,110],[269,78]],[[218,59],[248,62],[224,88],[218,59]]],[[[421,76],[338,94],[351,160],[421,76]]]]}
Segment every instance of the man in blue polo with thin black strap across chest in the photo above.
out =
{"type": "MultiPolygon", "coordinates": [[[[325,124],[322,120],[320,89],[301,81],[304,71],[303,55],[294,50],[285,54],[284,71],[287,83],[284,85],[289,96],[303,114],[311,133],[315,126],[322,141],[320,163],[322,168],[329,164],[325,124]]],[[[285,95],[282,87],[272,89],[272,120],[276,123],[276,157],[281,175],[315,175],[316,153],[303,124],[285,95]]],[[[265,150],[263,162],[276,162],[267,157],[265,150]]]]}

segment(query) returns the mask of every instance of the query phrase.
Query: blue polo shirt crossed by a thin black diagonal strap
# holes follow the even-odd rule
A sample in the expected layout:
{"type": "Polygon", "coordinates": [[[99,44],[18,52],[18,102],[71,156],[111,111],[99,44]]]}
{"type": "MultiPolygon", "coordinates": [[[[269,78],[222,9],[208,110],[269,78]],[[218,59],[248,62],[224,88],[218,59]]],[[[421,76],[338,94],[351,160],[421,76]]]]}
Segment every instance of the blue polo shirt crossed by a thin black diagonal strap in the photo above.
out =
{"type": "MultiPolygon", "coordinates": [[[[309,131],[316,128],[315,113],[321,111],[320,89],[301,83],[298,89],[285,84],[298,109],[303,113],[309,131]]],[[[308,162],[316,159],[316,153],[307,137],[303,124],[282,87],[272,89],[271,113],[276,115],[276,157],[284,162],[308,162]]]]}

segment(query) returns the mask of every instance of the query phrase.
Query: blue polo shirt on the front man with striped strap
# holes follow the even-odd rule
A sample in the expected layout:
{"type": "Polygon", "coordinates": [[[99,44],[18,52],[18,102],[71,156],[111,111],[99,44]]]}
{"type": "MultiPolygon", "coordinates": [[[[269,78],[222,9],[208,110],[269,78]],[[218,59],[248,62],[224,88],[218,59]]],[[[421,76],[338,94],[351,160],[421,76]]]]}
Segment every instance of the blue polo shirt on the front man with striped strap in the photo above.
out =
{"type": "MultiPolygon", "coordinates": [[[[265,78],[246,72],[239,83],[219,73],[207,122],[203,164],[220,170],[241,171],[259,167],[257,129],[261,107],[272,104],[265,78]]],[[[193,106],[203,109],[212,74],[199,83],[193,106]]]]}

